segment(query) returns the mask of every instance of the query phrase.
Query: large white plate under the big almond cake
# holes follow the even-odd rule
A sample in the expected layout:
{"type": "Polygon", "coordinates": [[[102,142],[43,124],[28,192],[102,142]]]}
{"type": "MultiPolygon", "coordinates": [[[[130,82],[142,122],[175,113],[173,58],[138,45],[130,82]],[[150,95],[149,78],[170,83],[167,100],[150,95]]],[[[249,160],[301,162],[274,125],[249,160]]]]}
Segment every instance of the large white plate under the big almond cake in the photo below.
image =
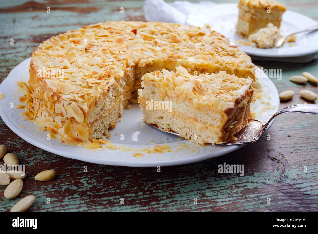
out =
{"type": "MultiPolygon", "coordinates": [[[[0,100],[0,115],[8,127],[25,141],[51,153],[67,158],[78,159],[85,162],[92,162],[106,165],[120,165],[130,167],[157,167],[181,165],[191,162],[198,162],[205,159],[217,157],[237,150],[241,146],[226,146],[207,144],[205,146],[191,143],[188,140],[180,139],[175,135],[164,133],[154,127],[149,126],[142,120],[142,111],[139,104],[132,104],[131,109],[126,109],[121,121],[111,130],[109,140],[119,147],[132,148],[131,151],[121,149],[108,149],[104,147],[98,152],[88,151],[82,147],[68,146],[57,139],[47,140],[48,132],[37,131],[38,126],[29,120],[22,120],[24,116],[19,113],[23,109],[12,107],[21,104],[19,102],[20,91],[17,91],[16,81],[29,79],[30,60],[26,59],[17,65],[0,84],[0,93],[5,93],[0,100]],[[24,128],[20,126],[23,125],[24,128]],[[116,134],[117,133],[117,134],[116,134]],[[151,143],[153,141],[153,144],[151,143]],[[157,144],[171,147],[171,152],[162,154],[146,154],[142,158],[134,157],[137,149],[154,147],[157,144]],[[183,145],[183,146],[181,146],[183,145]],[[180,151],[175,152],[179,148],[180,151]]],[[[279,107],[279,96],[273,82],[267,78],[266,74],[258,68],[259,81],[263,84],[264,95],[262,100],[252,103],[251,111],[259,113],[257,118],[266,122],[279,107]],[[268,101],[271,106],[268,108],[268,101]]],[[[3,142],[4,143],[4,142],[3,142]]],[[[255,146],[257,144],[254,143],[255,146]]]]}

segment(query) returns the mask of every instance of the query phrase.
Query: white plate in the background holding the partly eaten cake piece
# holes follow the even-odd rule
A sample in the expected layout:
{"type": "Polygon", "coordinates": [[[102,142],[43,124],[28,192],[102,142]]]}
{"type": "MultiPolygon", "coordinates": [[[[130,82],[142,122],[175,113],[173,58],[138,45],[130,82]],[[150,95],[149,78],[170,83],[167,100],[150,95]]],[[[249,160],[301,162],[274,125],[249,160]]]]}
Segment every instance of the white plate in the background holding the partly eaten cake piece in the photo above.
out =
{"type": "MultiPolygon", "coordinates": [[[[236,44],[242,37],[236,33],[235,24],[237,22],[239,10],[236,3],[217,4],[213,9],[200,10],[193,12],[188,16],[187,24],[205,27],[209,24],[212,30],[215,30],[225,37],[229,38],[231,44],[236,44]],[[212,12],[212,13],[211,13],[212,12]]],[[[280,26],[280,34],[286,35],[293,31],[308,28],[318,24],[317,21],[300,13],[287,10],[283,14],[280,26]]],[[[296,42],[293,46],[285,43],[280,48],[261,49],[252,46],[241,45],[240,50],[249,55],[264,57],[297,57],[318,52],[318,31],[312,33],[297,34],[296,42]]]]}

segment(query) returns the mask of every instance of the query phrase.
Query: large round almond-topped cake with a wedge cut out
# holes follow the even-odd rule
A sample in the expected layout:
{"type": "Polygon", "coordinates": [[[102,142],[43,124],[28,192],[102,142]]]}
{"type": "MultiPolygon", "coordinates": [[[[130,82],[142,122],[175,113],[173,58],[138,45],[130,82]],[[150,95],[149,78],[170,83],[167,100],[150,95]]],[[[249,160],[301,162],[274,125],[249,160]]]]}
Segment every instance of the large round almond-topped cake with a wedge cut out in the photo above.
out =
{"type": "Polygon", "coordinates": [[[161,22],[117,21],[67,31],[32,53],[24,114],[70,145],[109,137],[141,77],[182,66],[255,80],[251,58],[215,31],[161,22]]]}

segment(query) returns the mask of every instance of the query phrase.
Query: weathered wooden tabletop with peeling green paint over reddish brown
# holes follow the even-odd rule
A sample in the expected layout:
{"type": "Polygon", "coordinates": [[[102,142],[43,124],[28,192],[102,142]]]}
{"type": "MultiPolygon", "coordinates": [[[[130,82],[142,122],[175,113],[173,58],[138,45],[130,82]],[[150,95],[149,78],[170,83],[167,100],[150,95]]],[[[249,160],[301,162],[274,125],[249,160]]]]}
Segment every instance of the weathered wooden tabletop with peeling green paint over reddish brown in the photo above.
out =
{"type": "MultiPolygon", "coordinates": [[[[318,20],[316,0],[280,2],[318,20]]],[[[145,20],[143,1],[2,0],[0,4],[1,80],[30,57],[37,45],[60,32],[105,20],[145,20]]],[[[289,81],[303,71],[318,77],[317,60],[307,64],[255,63],[282,69],[282,79],[272,79],[278,91],[295,91],[293,100],[281,103],[280,108],[304,103],[299,95],[304,88],[318,93],[316,85],[289,81]]],[[[64,158],[22,140],[2,120],[0,129],[0,144],[26,164],[27,177],[18,198],[36,196],[29,211],[318,211],[318,118],[314,115],[279,116],[268,131],[271,140],[265,136],[233,153],[164,167],[160,173],[156,168],[105,166],[64,158]],[[218,174],[218,165],[224,162],[244,164],[245,175],[218,174]],[[87,172],[83,172],[85,166],[87,172]],[[34,176],[45,169],[55,169],[59,176],[51,182],[36,182],[34,176]]],[[[0,187],[1,193],[4,189],[0,187]]],[[[1,195],[0,211],[9,211],[15,202],[17,199],[1,195]]]]}

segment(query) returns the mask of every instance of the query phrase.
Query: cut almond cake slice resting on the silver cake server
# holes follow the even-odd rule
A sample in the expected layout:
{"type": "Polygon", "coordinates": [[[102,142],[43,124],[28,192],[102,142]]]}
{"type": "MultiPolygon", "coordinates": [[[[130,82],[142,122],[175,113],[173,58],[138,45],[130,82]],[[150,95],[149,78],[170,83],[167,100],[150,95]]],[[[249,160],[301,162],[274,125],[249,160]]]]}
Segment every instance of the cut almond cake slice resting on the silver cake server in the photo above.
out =
{"type": "Polygon", "coordinates": [[[253,80],[219,72],[197,76],[182,66],[142,77],[144,121],[198,144],[229,141],[248,121],[253,80]]]}

